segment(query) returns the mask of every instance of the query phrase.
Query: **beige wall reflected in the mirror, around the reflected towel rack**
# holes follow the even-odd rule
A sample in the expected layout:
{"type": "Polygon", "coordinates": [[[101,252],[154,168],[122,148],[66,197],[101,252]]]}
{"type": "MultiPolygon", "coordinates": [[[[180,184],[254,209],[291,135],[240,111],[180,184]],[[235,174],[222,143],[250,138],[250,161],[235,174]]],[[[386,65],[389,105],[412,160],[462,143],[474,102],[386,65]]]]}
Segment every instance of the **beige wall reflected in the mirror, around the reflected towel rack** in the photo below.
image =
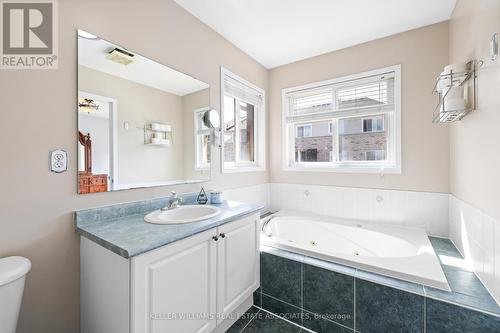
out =
{"type": "MultiPolygon", "coordinates": [[[[184,119],[182,97],[114,75],[78,66],[78,89],[116,99],[117,181],[125,185],[184,179],[184,119]],[[129,123],[125,130],[123,123],[129,123]],[[145,124],[160,122],[172,126],[170,147],[144,145],[145,124]]],[[[209,99],[206,96],[206,102],[209,99]]],[[[192,123],[186,124],[187,130],[192,123]]]]}

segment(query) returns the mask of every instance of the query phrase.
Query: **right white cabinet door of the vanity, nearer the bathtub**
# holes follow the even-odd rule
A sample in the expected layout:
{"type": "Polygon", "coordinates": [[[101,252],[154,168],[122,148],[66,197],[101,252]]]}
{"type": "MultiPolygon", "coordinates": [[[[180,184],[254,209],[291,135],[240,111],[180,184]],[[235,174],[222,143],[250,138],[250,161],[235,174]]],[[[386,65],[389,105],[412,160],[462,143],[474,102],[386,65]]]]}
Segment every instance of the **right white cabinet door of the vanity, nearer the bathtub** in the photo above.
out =
{"type": "Polygon", "coordinates": [[[221,315],[231,313],[260,285],[259,217],[223,225],[218,233],[217,313],[221,315]]]}

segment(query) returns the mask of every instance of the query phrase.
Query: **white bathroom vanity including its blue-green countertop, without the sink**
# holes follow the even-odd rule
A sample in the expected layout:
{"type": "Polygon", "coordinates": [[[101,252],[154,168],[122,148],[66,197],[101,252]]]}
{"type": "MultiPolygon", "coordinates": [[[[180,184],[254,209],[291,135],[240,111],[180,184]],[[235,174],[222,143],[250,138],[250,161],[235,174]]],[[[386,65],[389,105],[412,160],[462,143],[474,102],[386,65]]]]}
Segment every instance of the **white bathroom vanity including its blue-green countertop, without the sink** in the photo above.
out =
{"type": "Polygon", "coordinates": [[[224,332],[252,305],[262,207],[223,202],[203,221],[144,221],[163,206],[158,199],[75,213],[82,333],[224,332]]]}

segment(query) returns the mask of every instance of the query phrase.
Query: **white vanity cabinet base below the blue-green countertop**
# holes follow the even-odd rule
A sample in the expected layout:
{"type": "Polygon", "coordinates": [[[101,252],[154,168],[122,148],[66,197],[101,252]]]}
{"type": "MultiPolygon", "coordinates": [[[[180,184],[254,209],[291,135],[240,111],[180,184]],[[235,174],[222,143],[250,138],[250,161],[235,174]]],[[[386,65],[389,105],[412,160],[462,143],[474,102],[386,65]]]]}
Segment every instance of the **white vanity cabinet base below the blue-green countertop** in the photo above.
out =
{"type": "Polygon", "coordinates": [[[260,284],[259,216],[130,259],[82,238],[81,256],[82,333],[223,332],[260,284]]]}

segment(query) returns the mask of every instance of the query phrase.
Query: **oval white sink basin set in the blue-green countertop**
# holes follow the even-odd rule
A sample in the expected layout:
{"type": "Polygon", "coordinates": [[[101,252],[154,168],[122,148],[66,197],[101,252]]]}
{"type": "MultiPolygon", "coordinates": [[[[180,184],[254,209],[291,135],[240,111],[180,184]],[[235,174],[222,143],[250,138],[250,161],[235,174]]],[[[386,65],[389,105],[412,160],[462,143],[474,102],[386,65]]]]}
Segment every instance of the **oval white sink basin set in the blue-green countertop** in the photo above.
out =
{"type": "Polygon", "coordinates": [[[169,210],[155,210],[144,217],[144,221],[155,224],[180,224],[209,219],[220,213],[220,209],[209,205],[187,205],[169,210]]]}

